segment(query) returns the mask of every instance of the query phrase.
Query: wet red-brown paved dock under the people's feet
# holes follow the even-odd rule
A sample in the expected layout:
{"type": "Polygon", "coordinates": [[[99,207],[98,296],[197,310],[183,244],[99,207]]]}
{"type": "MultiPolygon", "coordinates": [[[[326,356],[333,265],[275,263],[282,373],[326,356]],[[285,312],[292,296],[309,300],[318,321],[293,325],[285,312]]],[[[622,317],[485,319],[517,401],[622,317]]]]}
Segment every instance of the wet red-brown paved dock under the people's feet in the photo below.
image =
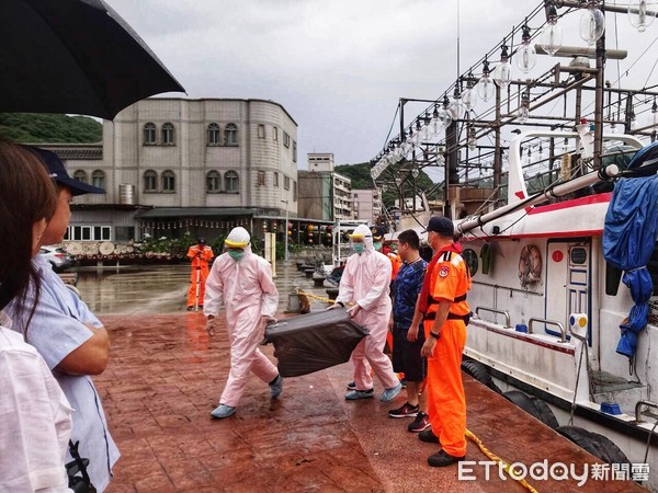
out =
{"type": "MultiPolygon", "coordinates": [[[[94,380],[122,450],[109,492],[526,491],[497,471],[485,480],[484,467],[473,467],[475,481],[458,481],[456,466],[429,468],[427,457],[438,446],[408,433],[408,420],[386,415],[405,401],[404,393],[387,404],[344,401],[350,364],[286,379],[276,401],[251,378],[238,412],[217,421],[209,412],[229,367],[224,330],[208,339],[203,316],[194,312],[101,319],[110,329],[112,358],[94,380]]],[[[264,353],[272,357],[271,346],[264,353]]],[[[498,456],[526,466],[544,459],[575,463],[579,470],[599,462],[464,379],[468,428],[498,456]]],[[[467,459],[487,460],[472,443],[467,459]]],[[[575,480],[529,482],[538,491],[577,488],[575,480]]],[[[590,479],[579,490],[642,489],[629,481],[590,479]]]]}

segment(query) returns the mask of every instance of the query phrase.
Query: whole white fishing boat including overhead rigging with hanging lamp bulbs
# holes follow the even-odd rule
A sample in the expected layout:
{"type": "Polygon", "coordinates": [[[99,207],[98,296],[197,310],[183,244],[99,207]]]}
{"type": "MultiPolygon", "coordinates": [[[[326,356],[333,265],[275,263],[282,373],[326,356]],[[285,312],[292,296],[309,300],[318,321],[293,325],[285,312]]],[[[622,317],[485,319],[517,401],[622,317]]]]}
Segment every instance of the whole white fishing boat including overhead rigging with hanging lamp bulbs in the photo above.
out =
{"type": "Polygon", "coordinates": [[[371,169],[399,197],[398,230],[454,220],[473,278],[464,369],[654,491],[658,85],[650,49],[616,28],[627,18],[643,33],[656,14],[543,0],[466,70],[457,36],[455,82],[400,98],[399,133],[371,169]],[[625,70],[620,41],[635,48],[625,70]],[[419,211],[421,172],[435,185],[419,211]]]}

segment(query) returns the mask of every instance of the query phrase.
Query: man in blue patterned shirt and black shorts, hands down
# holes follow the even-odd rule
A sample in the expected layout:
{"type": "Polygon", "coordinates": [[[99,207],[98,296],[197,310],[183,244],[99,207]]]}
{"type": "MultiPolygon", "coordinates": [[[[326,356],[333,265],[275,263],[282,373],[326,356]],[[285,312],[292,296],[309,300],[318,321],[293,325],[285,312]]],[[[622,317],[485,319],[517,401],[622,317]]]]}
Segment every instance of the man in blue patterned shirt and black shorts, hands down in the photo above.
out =
{"type": "Polygon", "coordinates": [[[426,377],[426,358],[420,355],[424,342],[423,331],[412,326],[416,301],[422,287],[427,262],[420,257],[420,240],[412,229],[398,236],[398,254],[402,266],[393,284],[393,369],[404,372],[407,380],[407,402],[388,411],[390,417],[416,417],[409,432],[419,433],[429,427],[427,397],[422,392],[426,377]]]}

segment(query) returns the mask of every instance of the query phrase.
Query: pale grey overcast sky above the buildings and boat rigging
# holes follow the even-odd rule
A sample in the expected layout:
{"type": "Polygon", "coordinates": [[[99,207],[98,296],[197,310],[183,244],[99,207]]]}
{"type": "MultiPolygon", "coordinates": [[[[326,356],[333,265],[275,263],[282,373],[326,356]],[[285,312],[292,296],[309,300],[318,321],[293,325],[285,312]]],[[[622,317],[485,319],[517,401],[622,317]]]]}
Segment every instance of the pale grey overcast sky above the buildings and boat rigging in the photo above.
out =
{"type": "MultiPolygon", "coordinates": [[[[282,104],[298,124],[302,169],[308,152],[333,152],[338,164],[368,161],[384,146],[400,98],[435,100],[456,78],[460,0],[106,1],[189,96],[282,104]]],[[[462,71],[536,4],[461,1],[462,71]]],[[[626,26],[622,18],[617,28],[626,26]]],[[[642,49],[655,41],[658,22],[651,27],[637,42],[642,49]]],[[[609,19],[609,39],[613,28],[609,19]]],[[[583,44],[577,33],[566,32],[568,41],[583,44]]],[[[405,111],[413,117],[426,106],[405,111]]]]}

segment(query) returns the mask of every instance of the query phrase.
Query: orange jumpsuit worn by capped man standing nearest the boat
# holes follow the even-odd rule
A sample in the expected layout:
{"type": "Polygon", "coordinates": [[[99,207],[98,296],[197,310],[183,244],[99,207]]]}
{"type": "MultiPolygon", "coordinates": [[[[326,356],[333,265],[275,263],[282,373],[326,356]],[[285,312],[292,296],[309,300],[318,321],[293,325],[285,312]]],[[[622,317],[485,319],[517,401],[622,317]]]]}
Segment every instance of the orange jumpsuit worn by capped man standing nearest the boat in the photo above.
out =
{"type": "MultiPolygon", "coordinates": [[[[429,297],[423,320],[427,339],[430,337],[430,330],[434,323],[438,310],[435,300],[439,298],[452,301],[452,317],[470,312],[466,302],[470,276],[464,259],[456,253],[457,251],[460,248],[454,243],[441,249],[434,256],[436,262],[431,271],[428,267],[426,282],[429,283],[429,297]]],[[[432,432],[439,437],[441,447],[454,457],[466,455],[466,395],[461,367],[465,344],[464,320],[449,318],[441,329],[441,337],[436,341],[433,355],[428,357],[426,391],[432,432]]]]}

